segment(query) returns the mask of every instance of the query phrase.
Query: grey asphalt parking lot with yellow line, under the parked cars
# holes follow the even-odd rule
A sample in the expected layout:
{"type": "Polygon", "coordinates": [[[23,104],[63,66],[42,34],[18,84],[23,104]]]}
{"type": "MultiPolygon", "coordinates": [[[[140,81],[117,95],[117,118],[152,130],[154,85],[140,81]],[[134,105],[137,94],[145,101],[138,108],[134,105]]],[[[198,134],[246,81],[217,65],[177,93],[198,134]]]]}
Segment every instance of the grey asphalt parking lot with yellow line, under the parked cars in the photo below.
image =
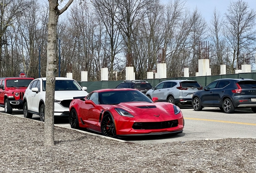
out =
{"type": "MultiPolygon", "coordinates": [[[[192,107],[181,107],[185,119],[184,131],[178,135],[151,135],[122,138],[122,140],[140,143],[166,143],[173,141],[192,141],[220,138],[256,138],[256,113],[250,109],[236,110],[233,114],[223,113],[217,108],[204,108],[194,111],[192,107]]],[[[4,113],[4,108],[0,108],[4,113]]],[[[14,109],[13,115],[23,117],[23,111],[14,109]]],[[[39,116],[33,115],[39,121],[39,116]]],[[[70,128],[68,119],[56,119],[59,126],[70,128]]]]}

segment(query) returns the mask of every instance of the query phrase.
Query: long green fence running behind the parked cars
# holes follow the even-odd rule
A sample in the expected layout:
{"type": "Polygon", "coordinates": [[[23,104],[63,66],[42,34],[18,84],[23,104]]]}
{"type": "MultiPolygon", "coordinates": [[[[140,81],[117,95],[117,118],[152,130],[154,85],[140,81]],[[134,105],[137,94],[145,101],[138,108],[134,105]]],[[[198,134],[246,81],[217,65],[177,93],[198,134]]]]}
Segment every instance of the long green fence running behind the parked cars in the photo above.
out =
{"type": "MultiPolygon", "coordinates": [[[[157,84],[164,80],[196,80],[202,87],[205,87],[213,80],[219,78],[252,78],[256,80],[256,73],[238,73],[238,74],[223,74],[223,75],[215,75],[215,76],[193,76],[193,77],[175,77],[175,78],[162,78],[162,79],[147,79],[149,83],[155,87],[157,84]]],[[[118,84],[123,82],[123,80],[116,81],[94,81],[94,82],[79,82],[78,83],[82,87],[87,87],[87,92],[98,90],[98,89],[107,89],[107,88],[115,88],[118,84]]]]}

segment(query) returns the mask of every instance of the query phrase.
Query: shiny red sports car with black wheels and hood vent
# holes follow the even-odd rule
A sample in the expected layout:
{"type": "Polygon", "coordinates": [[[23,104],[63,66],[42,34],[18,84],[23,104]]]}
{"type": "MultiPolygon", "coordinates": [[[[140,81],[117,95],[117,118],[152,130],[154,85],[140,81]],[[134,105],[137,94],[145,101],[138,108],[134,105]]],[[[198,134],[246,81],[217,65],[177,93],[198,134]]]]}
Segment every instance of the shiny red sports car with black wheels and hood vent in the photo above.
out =
{"type": "Polygon", "coordinates": [[[70,103],[71,128],[86,128],[108,137],[182,133],[179,107],[155,102],[135,89],[101,89],[70,103]]]}

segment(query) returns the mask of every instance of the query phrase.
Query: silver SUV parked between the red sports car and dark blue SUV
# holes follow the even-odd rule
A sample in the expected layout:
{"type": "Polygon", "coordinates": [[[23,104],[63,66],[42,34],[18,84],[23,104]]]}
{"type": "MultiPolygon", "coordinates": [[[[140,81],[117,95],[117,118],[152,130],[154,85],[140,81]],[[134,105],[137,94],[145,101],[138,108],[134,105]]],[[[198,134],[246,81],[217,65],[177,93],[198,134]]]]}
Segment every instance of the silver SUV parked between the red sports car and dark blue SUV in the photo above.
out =
{"type": "Polygon", "coordinates": [[[198,90],[202,90],[202,86],[195,80],[165,80],[149,90],[146,95],[150,99],[158,97],[158,101],[174,105],[192,105],[192,95],[198,90]]]}

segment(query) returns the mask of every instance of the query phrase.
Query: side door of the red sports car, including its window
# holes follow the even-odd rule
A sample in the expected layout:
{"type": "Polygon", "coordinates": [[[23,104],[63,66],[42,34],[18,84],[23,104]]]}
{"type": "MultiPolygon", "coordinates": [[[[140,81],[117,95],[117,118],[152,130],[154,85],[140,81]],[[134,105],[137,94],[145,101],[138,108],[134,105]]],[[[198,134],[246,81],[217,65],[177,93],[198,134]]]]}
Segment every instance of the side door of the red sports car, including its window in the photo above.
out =
{"type": "Polygon", "coordinates": [[[81,109],[81,115],[83,121],[85,121],[92,130],[100,131],[100,126],[99,126],[99,115],[102,111],[99,106],[99,95],[97,92],[92,93],[88,100],[93,101],[95,103],[96,107],[94,107],[91,104],[85,104],[84,108],[81,109]]]}

